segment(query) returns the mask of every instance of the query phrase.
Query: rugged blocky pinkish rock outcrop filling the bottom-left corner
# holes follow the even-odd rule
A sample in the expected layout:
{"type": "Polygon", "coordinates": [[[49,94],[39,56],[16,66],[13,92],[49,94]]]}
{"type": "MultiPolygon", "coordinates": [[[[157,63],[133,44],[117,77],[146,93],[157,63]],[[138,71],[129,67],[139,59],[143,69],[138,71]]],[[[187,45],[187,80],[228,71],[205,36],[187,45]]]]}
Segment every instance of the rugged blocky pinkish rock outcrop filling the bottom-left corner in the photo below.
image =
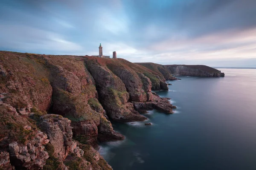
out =
{"type": "MultiPolygon", "coordinates": [[[[12,166],[16,169],[42,169],[49,157],[44,150],[44,144],[49,142],[47,135],[6,103],[0,104],[0,120],[0,147],[9,152],[12,166]]],[[[0,167],[6,166],[2,164],[0,167]]]]}

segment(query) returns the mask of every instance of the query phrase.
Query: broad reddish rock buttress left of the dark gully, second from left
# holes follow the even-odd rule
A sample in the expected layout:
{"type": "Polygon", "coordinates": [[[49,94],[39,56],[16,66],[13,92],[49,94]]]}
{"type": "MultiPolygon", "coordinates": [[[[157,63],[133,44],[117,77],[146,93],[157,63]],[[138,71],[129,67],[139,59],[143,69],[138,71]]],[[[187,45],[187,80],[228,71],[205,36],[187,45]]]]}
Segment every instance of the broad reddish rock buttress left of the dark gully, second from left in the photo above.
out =
{"type": "Polygon", "coordinates": [[[76,139],[96,146],[104,109],[97,99],[95,81],[83,60],[66,56],[46,56],[44,59],[51,73],[52,112],[72,120],[76,139]]]}

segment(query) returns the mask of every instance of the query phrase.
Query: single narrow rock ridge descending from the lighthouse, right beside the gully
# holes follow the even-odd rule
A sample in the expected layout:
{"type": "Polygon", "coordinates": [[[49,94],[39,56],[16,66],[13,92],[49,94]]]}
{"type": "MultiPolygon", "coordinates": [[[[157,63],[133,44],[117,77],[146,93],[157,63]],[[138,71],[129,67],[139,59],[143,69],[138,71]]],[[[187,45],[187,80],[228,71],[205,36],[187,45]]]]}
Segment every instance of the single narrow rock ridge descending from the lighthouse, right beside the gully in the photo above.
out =
{"type": "MultiPolygon", "coordinates": [[[[129,94],[122,80],[105,65],[99,64],[97,60],[102,58],[88,57],[85,59],[87,69],[96,81],[99,101],[106,110],[108,117],[120,122],[145,120],[144,116],[134,110],[133,104],[128,102],[129,94]]],[[[107,59],[104,60],[107,61],[107,59]]]]}

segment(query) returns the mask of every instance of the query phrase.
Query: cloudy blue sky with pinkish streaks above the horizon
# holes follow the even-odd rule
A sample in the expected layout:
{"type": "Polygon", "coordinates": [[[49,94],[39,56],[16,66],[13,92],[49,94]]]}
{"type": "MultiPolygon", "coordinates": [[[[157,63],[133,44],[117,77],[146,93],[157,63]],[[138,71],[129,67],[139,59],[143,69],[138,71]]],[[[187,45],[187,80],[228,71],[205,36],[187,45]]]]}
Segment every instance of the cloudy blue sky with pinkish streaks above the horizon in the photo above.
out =
{"type": "Polygon", "coordinates": [[[256,67],[256,0],[0,0],[0,50],[256,67]]]}

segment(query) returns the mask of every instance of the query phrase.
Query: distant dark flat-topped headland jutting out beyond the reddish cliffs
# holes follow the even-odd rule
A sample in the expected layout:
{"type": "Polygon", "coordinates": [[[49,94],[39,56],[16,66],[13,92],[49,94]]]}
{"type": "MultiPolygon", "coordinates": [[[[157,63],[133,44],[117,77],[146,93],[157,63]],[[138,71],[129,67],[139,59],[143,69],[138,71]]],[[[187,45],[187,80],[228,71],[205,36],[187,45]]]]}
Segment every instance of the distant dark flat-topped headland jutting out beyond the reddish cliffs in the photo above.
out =
{"type": "Polygon", "coordinates": [[[174,76],[200,76],[200,77],[224,77],[224,73],[206,65],[160,65],[151,62],[136,63],[162,74],[165,79],[174,79],[174,76]]]}

